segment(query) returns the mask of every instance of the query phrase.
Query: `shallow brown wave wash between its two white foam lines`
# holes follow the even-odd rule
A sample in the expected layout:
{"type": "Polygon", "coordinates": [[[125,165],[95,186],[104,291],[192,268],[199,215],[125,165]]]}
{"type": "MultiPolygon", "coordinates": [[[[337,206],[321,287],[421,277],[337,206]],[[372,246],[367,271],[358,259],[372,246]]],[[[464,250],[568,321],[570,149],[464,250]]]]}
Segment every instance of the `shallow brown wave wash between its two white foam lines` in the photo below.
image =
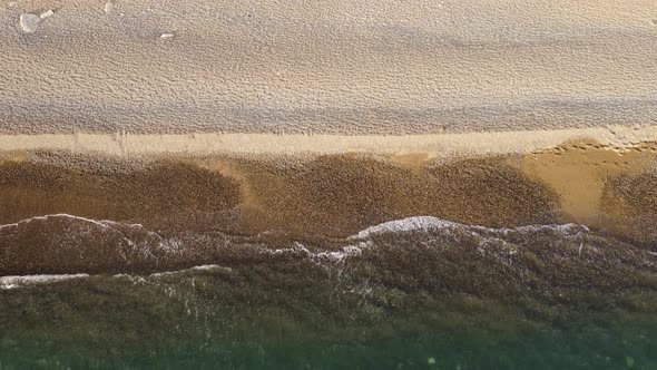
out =
{"type": "MultiPolygon", "coordinates": [[[[301,242],[275,233],[241,236],[219,232],[154,232],[140,224],[53,214],[0,226],[0,276],[167,274],[281,259],[341,264],[381,245],[422,244],[426,241],[462,249],[489,249],[504,254],[504,257],[531,245],[547,249],[573,245],[576,253],[581,254],[585,240],[592,238],[611,243],[578,224],[491,228],[432,216],[385,222],[345,238],[308,237],[301,242]]],[[[647,252],[644,254],[654,257],[647,252]]]]}

